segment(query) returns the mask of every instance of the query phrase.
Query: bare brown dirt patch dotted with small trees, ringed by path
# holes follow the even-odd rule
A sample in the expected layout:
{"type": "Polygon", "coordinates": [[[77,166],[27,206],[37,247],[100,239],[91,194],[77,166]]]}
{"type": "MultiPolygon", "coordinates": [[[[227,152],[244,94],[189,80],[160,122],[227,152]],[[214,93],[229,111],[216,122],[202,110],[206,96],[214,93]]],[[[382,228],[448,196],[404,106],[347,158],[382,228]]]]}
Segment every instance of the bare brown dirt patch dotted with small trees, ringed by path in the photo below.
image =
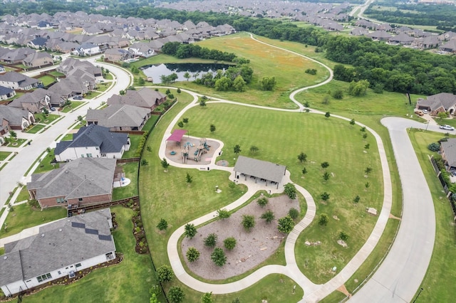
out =
{"type": "Polygon", "coordinates": [[[195,238],[182,240],[183,255],[190,247],[194,247],[200,252],[199,259],[196,262],[190,263],[187,257],[184,257],[187,266],[199,277],[209,280],[227,279],[251,270],[271,256],[286,237],[284,233],[277,230],[277,220],[286,216],[290,208],[296,208],[300,211],[299,201],[297,199],[290,200],[285,195],[269,198],[269,203],[264,208],[261,208],[257,204],[257,200],[254,200],[233,213],[231,217],[215,220],[198,228],[195,238]],[[260,218],[265,211],[274,212],[275,220],[269,224],[260,218]],[[256,225],[249,233],[241,225],[242,215],[255,217],[256,225]],[[227,255],[227,263],[222,267],[215,265],[211,260],[213,248],[204,246],[204,238],[209,233],[217,234],[216,247],[222,248],[227,255]],[[237,240],[236,247],[231,251],[224,248],[223,245],[224,239],[229,237],[234,237],[237,240]]]}

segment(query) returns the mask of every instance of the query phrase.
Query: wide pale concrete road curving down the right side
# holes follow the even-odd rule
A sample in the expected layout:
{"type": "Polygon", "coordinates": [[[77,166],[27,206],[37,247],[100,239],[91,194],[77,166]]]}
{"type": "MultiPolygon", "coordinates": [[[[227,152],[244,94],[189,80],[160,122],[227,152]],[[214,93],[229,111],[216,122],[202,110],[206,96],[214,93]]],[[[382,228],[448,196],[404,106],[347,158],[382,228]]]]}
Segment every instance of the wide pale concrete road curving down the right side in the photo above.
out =
{"type": "MultiPolygon", "coordinates": [[[[434,246],[432,196],[407,133],[408,127],[425,129],[425,124],[395,117],[381,122],[390,132],[403,188],[402,222],[387,257],[350,302],[411,302],[423,281],[434,246]]],[[[442,132],[437,125],[429,125],[428,129],[442,132]]]]}

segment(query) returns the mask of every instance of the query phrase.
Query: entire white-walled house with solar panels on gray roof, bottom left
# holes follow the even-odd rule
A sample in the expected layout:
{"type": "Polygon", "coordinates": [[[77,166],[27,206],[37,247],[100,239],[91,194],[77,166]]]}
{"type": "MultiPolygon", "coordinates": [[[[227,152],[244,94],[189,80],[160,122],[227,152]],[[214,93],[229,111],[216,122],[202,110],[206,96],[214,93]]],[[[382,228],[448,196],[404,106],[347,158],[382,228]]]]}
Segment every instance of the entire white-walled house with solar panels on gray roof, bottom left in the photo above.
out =
{"type": "Polygon", "coordinates": [[[6,296],[115,259],[109,208],[57,220],[36,235],[5,243],[0,287],[6,296]]]}

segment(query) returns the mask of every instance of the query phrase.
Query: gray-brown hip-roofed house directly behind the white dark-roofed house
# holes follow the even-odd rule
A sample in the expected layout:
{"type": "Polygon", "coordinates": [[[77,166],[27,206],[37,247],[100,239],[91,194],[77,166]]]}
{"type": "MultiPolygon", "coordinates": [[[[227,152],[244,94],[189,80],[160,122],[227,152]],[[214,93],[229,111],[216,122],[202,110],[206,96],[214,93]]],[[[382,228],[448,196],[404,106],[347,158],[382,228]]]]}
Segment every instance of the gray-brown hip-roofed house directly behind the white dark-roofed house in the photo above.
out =
{"type": "Polygon", "coordinates": [[[88,125],[109,127],[111,132],[141,130],[149,118],[148,108],[121,104],[110,105],[103,110],[88,110],[86,115],[88,125]]]}

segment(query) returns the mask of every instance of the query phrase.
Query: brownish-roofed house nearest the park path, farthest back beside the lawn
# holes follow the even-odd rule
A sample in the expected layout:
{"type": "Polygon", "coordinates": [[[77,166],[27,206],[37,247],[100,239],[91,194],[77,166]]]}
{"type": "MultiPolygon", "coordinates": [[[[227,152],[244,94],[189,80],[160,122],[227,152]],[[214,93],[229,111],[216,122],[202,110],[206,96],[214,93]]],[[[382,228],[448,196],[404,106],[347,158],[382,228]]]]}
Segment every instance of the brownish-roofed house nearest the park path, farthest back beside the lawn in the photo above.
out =
{"type": "Polygon", "coordinates": [[[108,105],[133,105],[144,107],[151,112],[155,107],[166,101],[166,95],[157,92],[150,87],[143,87],[140,90],[127,90],[125,95],[113,95],[107,101],[108,105]]]}

